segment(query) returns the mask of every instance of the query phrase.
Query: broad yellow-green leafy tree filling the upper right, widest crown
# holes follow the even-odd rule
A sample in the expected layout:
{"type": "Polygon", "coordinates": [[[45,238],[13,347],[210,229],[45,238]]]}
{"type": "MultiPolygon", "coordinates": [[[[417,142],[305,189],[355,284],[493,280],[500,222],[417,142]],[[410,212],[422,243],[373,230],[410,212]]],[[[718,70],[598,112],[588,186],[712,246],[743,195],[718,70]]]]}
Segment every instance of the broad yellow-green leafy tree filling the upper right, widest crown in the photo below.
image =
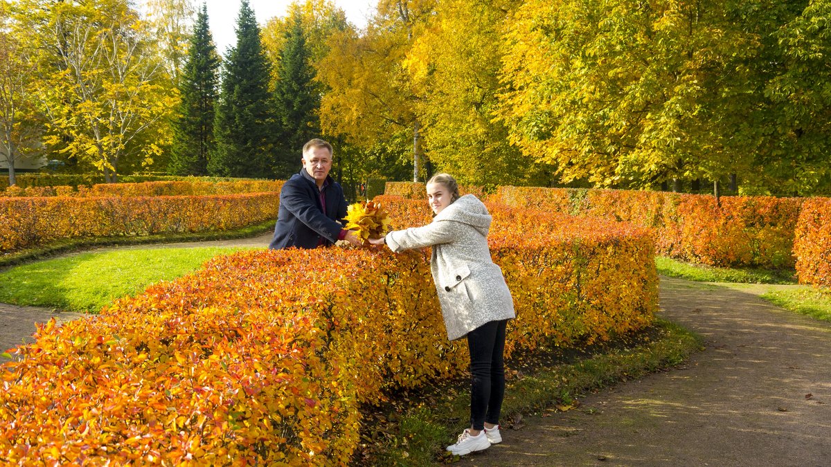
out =
{"type": "MultiPolygon", "coordinates": [[[[506,22],[499,117],[566,179],[652,186],[758,169],[795,2],[524,2],[506,22]]],[[[717,185],[716,185],[717,189],[717,185]]]]}

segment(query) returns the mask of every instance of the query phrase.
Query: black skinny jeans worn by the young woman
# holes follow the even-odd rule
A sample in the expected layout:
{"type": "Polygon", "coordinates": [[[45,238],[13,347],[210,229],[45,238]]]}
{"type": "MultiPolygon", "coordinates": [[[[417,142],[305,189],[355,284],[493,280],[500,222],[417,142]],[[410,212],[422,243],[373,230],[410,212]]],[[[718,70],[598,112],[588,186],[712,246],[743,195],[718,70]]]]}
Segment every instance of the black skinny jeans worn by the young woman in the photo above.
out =
{"type": "Polygon", "coordinates": [[[499,424],[505,395],[505,325],[492,321],[468,332],[470,349],[470,425],[484,430],[484,422],[499,424]]]}

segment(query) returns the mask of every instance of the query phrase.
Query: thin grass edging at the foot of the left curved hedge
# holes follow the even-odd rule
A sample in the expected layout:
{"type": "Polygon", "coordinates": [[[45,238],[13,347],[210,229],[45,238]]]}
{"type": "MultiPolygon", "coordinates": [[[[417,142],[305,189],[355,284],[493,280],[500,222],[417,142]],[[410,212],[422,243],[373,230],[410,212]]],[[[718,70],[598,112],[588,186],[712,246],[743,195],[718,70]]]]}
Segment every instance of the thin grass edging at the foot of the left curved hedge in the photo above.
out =
{"type": "Polygon", "coordinates": [[[27,248],[21,251],[8,254],[0,254],[0,268],[7,268],[22,263],[30,263],[38,259],[46,259],[61,253],[71,253],[89,248],[120,246],[120,245],[142,245],[156,243],[178,243],[178,242],[207,242],[213,240],[233,240],[237,238],[256,237],[274,228],[274,220],[268,220],[261,224],[254,224],[242,229],[195,232],[179,234],[155,234],[146,236],[120,236],[120,237],[96,237],[96,238],[72,238],[58,240],[38,248],[27,248]]]}

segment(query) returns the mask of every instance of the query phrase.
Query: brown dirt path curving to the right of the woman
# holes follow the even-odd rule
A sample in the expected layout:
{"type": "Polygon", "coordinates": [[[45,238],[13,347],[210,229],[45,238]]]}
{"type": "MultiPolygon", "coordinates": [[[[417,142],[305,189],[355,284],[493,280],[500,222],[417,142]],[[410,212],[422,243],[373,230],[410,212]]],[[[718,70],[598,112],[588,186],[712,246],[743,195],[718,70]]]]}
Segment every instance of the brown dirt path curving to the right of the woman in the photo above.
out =
{"type": "Polygon", "coordinates": [[[831,465],[831,325],[753,292],[661,278],[661,315],[706,351],[527,417],[461,465],[831,465]]]}

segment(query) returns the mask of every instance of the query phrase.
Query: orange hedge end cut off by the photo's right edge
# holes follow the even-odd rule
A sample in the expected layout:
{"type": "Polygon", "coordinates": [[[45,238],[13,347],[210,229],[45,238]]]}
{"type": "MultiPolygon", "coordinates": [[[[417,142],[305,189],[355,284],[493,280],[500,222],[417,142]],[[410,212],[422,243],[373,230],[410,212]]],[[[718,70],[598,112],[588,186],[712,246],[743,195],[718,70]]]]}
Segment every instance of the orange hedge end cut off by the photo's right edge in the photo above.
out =
{"type": "Polygon", "coordinates": [[[799,282],[831,287],[831,199],[805,200],[799,213],[794,254],[799,282]]]}

